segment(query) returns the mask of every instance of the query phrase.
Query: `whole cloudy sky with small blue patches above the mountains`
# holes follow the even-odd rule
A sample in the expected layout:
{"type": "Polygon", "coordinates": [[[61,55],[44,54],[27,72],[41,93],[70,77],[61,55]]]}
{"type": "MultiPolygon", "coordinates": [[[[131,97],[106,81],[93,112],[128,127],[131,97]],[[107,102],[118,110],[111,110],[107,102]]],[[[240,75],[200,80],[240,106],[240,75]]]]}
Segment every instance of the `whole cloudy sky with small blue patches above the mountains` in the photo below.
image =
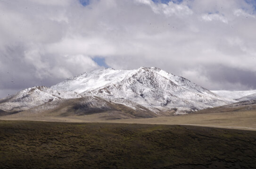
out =
{"type": "Polygon", "coordinates": [[[256,89],[255,30],[256,0],[0,0],[0,98],[103,68],[256,89]]]}

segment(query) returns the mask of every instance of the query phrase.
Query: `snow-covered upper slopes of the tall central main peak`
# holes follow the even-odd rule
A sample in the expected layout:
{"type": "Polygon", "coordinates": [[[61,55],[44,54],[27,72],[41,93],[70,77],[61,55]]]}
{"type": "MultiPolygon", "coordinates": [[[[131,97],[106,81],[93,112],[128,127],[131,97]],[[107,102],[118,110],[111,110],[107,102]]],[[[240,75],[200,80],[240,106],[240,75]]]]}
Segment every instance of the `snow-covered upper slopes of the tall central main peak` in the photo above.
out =
{"type": "Polygon", "coordinates": [[[133,70],[100,69],[83,73],[50,87],[57,91],[73,91],[82,96],[98,96],[124,103],[130,100],[154,112],[177,108],[198,110],[234,102],[158,68],[133,70]]]}

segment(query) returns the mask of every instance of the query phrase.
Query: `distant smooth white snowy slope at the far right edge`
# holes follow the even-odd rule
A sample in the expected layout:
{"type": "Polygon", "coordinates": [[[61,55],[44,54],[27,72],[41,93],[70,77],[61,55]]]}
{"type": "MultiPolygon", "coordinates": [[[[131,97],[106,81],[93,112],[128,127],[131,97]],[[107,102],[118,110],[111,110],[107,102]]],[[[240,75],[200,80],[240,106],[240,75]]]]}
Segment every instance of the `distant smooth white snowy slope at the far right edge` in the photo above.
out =
{"type": "MultiPolygon", "coordinates": [[[[249,90],[249,91],[211,91],[221,97],[232,99],[232,100],[239,100],[240,98],[246,97],[248,95],[256,93],[256,90],[249,90]]],[[[253,96],[253,95],[252,95],[253,96]]],[[[246,99],[246,98],[244,98],[246,99]]]]}

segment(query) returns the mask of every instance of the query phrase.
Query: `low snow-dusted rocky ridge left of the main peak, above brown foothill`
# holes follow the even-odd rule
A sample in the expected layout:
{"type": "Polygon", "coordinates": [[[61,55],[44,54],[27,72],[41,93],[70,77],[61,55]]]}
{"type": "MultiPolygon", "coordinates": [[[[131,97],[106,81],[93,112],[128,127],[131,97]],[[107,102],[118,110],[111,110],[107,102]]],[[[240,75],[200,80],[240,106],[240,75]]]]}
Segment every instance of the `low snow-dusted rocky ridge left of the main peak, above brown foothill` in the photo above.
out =
{"type": "Polygon", "coordinates": [[[36,86],[24,89],[15,95],[0,100],[0,109],[4,111],[21,111],[53,100],[79,97],[81,96],[76,92],[58,92],[45,86],[36,86]]]}

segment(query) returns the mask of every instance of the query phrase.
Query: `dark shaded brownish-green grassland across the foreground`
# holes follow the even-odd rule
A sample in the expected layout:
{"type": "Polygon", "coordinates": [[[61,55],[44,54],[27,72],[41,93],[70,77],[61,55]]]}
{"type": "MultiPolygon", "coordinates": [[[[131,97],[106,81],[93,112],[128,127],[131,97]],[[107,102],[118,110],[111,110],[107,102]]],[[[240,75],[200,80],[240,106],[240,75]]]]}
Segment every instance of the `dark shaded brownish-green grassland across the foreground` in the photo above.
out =
{"type": "Polygon", "coordinates": [[[1,169],[253,169],[256,131],[0,121],[1,169]]]}

